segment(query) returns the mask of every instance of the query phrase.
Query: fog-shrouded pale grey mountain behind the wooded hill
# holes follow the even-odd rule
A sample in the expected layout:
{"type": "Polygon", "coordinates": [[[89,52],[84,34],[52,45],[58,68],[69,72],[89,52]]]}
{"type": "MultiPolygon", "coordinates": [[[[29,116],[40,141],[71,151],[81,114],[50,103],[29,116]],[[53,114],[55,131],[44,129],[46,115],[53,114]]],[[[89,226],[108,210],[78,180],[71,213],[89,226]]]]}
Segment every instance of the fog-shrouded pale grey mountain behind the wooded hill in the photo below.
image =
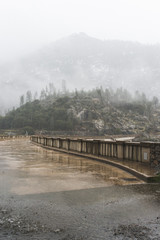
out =
{"type": "Polygon", "coordinates": [[[27,90],[40,93],[48,83],[69,90],[126,88],[160,97],[160,45],[98,40],[74,34],[23,59],[0,66],[1,111],[19,104],[27,90]]]}

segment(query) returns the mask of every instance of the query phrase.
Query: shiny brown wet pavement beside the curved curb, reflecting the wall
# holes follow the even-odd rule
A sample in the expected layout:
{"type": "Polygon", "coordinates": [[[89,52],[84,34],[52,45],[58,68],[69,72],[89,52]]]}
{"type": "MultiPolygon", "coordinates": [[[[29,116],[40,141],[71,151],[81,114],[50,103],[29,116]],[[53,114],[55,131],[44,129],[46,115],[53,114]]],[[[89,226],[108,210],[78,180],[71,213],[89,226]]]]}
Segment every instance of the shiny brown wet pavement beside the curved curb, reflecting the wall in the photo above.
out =
{"type": "Polygon", "coordinates": [[[142,183],[110,165],[46,150],[26,140],[0,142],[0,153],[0,177],[3,182],[9,177],[7,189],[15,194],[142,183]]]}

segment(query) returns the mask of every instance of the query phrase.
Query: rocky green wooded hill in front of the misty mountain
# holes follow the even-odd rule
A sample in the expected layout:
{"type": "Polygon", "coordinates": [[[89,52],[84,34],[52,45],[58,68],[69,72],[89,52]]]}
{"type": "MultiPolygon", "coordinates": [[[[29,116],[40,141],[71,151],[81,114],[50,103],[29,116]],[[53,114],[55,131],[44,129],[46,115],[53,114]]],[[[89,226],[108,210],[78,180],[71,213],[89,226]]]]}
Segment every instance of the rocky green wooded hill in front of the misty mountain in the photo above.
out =
{"type": "Polygon", "coordinates": [[[1,131],[134,134],[146,139],[160,134],[160,107],[156,97],[149,101],[144,93],[131,95],[122,88],[51,92],[46,87],[42,93],[40,99],[33,101],[29,92],[26,97],[21,96],[21,106],[0,118],[1,131]]]}

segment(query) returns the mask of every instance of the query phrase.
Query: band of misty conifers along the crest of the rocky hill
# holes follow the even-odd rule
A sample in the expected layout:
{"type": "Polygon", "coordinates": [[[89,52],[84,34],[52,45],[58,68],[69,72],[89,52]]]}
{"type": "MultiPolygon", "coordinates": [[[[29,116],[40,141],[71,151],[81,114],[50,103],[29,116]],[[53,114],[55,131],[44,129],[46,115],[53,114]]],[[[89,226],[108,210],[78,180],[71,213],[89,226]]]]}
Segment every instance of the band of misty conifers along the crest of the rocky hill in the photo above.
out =
{"type": "Polygon", "coordinates": [[[40,94],[38,92],[32,93],[30,90],[26,92],[26,94],[23,94],[20,96],[20,106],[24,105],[27,102],[32,102],[34,100],[46,100],[48,98],[54,98],[57,99],[59,97],[68,96],[89,96],[89,97],[95,97],[99,98],[101,102],[105,103],[131,103],[131,102],[137,102],[140,104],[145,104],[146,102],[153,103],[153,105],[157,106],[159,104],[158,97],[154,96],[151,100],[147,98],[145,93],[140,93],[138,90],[135,91],[134,94],[131,94],[127,89],[123,88],[117,88],[116,90],[113,90],[112,88],[106,88],[103,87],[95,88],[92,90],[77,90],[69,91],[66,88],[65,80],[62,80],[62,88],[56,89],[53,83],[49,83],[45,88],[43,88],[40,91],[40,94]]]}

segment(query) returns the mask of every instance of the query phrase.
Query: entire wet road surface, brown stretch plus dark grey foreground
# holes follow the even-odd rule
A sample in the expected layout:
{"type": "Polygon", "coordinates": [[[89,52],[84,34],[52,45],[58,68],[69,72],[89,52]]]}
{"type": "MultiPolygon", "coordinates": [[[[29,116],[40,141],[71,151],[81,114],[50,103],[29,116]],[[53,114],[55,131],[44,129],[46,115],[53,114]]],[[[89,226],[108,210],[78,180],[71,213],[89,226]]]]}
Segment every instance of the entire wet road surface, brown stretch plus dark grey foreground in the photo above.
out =
{"type": "Polygon", "coordinates": [[[0,239],[160,239],[159,184],[28,141],[0,152],[0,239]]]}

